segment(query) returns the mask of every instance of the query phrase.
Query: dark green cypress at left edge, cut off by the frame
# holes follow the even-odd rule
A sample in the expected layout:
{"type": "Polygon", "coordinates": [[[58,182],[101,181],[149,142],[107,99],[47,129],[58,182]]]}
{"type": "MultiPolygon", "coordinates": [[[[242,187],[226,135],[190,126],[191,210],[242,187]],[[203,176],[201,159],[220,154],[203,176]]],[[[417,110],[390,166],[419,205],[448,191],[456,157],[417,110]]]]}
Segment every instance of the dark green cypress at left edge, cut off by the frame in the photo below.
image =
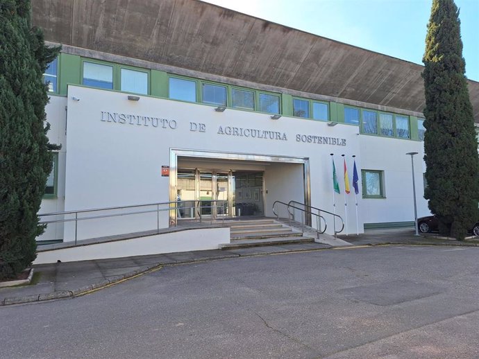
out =
{"type": "Polygon", "coordinates": [[[53,146],[42,74],[58,51],[31,28],[29,0],[0,1],[0,280],[31,264],[44,230],[37,212],[53,146]]]}

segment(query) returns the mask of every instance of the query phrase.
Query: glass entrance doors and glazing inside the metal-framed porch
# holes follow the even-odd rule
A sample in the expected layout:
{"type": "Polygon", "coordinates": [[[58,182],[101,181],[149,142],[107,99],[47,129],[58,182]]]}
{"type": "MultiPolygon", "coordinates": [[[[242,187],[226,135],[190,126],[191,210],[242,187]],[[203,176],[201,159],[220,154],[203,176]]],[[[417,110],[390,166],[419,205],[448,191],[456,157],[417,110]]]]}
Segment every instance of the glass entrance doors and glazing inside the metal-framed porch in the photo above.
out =
{"type": "Polygon", "coordinates": [[[264,172],[178,168],[176,218],[264,216],[264,172]]]}

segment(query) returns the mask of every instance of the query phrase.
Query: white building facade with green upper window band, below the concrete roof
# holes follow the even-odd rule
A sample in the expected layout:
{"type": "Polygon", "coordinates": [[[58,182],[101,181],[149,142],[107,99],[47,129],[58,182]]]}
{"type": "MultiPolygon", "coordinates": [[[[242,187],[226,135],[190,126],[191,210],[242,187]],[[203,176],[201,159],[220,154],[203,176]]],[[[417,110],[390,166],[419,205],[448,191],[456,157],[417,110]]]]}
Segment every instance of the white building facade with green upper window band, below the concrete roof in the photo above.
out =
{"type": "MultiPolygon", "coordinates": [[[[69,213],[72,221],[49,224],[38,240],[148,231],[200,216],[273,217],[274,202],[292,200],[337,213],[348,234],[411,226],[413,175],[418,215],[430,213],[420,112],[70,45],[45,79],[48,135],[62,147],[40,213],[149,206],[90,220],[106,212],[69,213]],[[407,152],[418,152],[414,174],[407,152]]],[[[325,218],[333,234],[333,218],[325,218]]]]}

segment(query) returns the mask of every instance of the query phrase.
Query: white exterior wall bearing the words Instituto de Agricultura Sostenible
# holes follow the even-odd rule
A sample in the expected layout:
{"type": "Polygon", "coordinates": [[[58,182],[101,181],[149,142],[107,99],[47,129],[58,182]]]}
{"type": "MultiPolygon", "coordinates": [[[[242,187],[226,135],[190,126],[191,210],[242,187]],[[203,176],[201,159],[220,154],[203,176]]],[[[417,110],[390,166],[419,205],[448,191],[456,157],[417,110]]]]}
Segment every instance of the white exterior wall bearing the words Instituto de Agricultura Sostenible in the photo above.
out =
{"type": "MultiPolygon", "coordinates": [[[[58,139],[64,145],[61,151],[65,153],[66,150],[68,160],[65,174],[62,170],[65,159],[60,160],[58,199],[44,200],[42,211],[47,211],[47,208],[49,211],[53,208],[73,211],[167,202],[171,200],[171,179],[161,176],[161,166],[170,165],[170,148],[181,148],[307,157],[310,159],[311,204],[331,212],[333,184],[330,153],[334,153],[342,191],[341,195],[336,195],[335,211],[344,218],[341,155],[346,155],[352,192],[346,196],[349,233],[356,231],[351,181],[352,156],[356,155],[359,172],[361,168],[384,170],[386,191],[385,199],[363,199],[358,195],[359,231],[362,231],[364,222],[410,221],[414,217],[410,157],[405,153],[417,151],[422,154],[423,144],[419,141],[362,135],[358,134],[359,128],[354,125],[339,123],[333,127],[323,121],[288,116],[271,120],[268,114],[258,112],[229,108],[225,112],[215,112],[214,107],[208,105],[149,96],[140,96],[139,101],[131,101],[126,94],[119,92],[72,85],[69,86],[67,99],[55,97],[48,112],[49,118],[55,118],[49,135],[53,141],[58,139]],[[65,123],[65,101],[68,104],[68,141],[62,137],[65,128],[61,127],[65,123]],[[124,116],[120,118],[119,114],[124,116]],[[140,125],[137,124],[137,117],[133,120],[126,117],[131,114],[140,116],[140,125]],[[111,116],[115,116],[116,122],[111,116]],[[147,125],[141,116],[149,117],[147,125]],[[203,124],[204,131],[195,131],[192,123],[203,124]],[[279,132],[278,138],[281,139],[241,137],[234,135],[232,128],[279,132]],[[232,134],[226,134],[229,131],[232,134]],[[337,139],[337,143],[343,143],[344,140],[346,145],[319,144],[314,143],[314,139],[308,142],[303,135],[330,137],[337,139]],[[64,198],[65,207],[62,208],[64,198]],[[54,207],[47,207],[49,203],[54,207]]],[[[65,155],[62,156],[65,158],[65,155]]],[[[415,157],[416,160],[418,158],[421,155],[415,157]]],[[[421,200],[423,165],[419,165],[419,161],[416,165],[418,214],[423,215],[428,213],[426,201],[421,200]]],[[[264,168],[265,189],[268,190],[265,195],[267,215],[272,214],[274,200],[304,202],[303,165],[269,164],[264,168]]],[[[168,221],[167,211],[161,213],[160,227],[168,227],[168,221]]],[[[155,229],[157,218],[156,213],[150,213],[135,218],[110,218],[96,224],[92,220],[78,223],[77,238],[81,239],[155,229]]],[[[328,232],[332,230],[332,225],[329,225],[328,232]]],[[[72,223],[65,225],[64,240],[74,240],[72,223]]]]}

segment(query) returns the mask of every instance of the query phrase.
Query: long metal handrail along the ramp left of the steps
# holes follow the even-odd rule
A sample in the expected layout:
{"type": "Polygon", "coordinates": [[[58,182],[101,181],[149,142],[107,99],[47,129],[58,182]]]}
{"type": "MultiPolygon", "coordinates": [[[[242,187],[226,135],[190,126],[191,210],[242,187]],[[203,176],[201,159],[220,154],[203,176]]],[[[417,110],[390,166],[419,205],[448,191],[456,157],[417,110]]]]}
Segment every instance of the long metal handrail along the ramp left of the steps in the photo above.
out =
{"type": "MultiPolygon", "coordinates": [[[[160,231],[160,212],[161,211],[178,211],[179,209],[195,209],[196,216],[195,218],[199,218],[200,222],[202,219],[201,209],[203,208],[218,208],[217,202],[224,202],[221,204],[221,207],[224,212],[226,212],[225,208],[228,205],[226,200],[180,200],[180,201],[168,201],[168,202],[156,202],[156,203],[149,203],[149,204],[135,204],[135,205],[128,205],[128,206],[119,206],[119,207],[103,207],[103,208],[94,208],[94,209],[80,209],[78,211],[61,211],[61,212],[53,212],[53,213],[40,213],[38,214],[39,217],[49,217],[49,216],[66,216],[66,215],[75,215],[74,218],[62,218],[61,220],[40,220],[41,225],[49,225],[51,223],[61,223],[61,222],[75,222],[75,245],[77,242],[78,237],[78,221],[79,220],[93,220],[99,218],[110,218],[110,217],[117,217],[117,216],[129,216],[133,214],[142,214],[142,213],[157,213],[157,231],[160,231]],[[186,202],[194,202],[193,206],[186,206],[186,202]],[[209,202],[209,206],[202,205],[203,202],[209,202]],[[183,205],[181,205],[183,203],[183,205]],[[168,206],[166,208],[160,208],[160,206],[168,206]],[[78,218],[78,213],[88,213],[88,212],[96,212],[96,211],[113,211],[113,210],[121,210],[121,209],[131,209],[131,208],[141,208],[141,207],[151,207],[156,206],[156,209],[150,210],[142,210],[142,211],[128,211],[122,213],[110,213],[102,216],[88,216],[88,217],[81,217],[78,218]]],[[[211,218],[212,221],[213,218],[211,218]]],[[[223,217],[224,221],[224,217],[223,217]]],[[[176,226],[176,221],[174,222],[176,226]]]]}

